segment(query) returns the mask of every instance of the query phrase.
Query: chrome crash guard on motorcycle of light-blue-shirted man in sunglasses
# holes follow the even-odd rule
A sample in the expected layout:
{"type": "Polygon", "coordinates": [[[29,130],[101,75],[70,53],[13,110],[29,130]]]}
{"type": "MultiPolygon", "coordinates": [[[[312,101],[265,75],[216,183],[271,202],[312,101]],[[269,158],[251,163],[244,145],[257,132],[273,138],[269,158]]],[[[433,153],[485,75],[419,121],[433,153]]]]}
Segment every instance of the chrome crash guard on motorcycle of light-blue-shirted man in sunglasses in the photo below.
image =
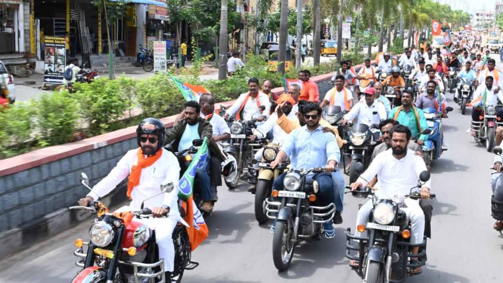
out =
{"type": "MultiPolygon", "coordinates": [[[[275,201],[272,198],[266,198],[266,216],[273,220],[286,220],[290,217],[291,209],[297,209],[297,204],[295,203],[285,203],[285,206],[281,208],[281,201],[275,201]]],[[[326,206],[309,206],[311,210],[311,222],[312,223],[328,223],[331,222],[333,216],[336,213],[336,205],[332,203],[326,206]],[[323,212],[326,211],[326,212],[323,212]]],[[[314,226],[312,227],[311,235],[298,235],[300,238],[310,238],[314,235],[314,226]]]]}

